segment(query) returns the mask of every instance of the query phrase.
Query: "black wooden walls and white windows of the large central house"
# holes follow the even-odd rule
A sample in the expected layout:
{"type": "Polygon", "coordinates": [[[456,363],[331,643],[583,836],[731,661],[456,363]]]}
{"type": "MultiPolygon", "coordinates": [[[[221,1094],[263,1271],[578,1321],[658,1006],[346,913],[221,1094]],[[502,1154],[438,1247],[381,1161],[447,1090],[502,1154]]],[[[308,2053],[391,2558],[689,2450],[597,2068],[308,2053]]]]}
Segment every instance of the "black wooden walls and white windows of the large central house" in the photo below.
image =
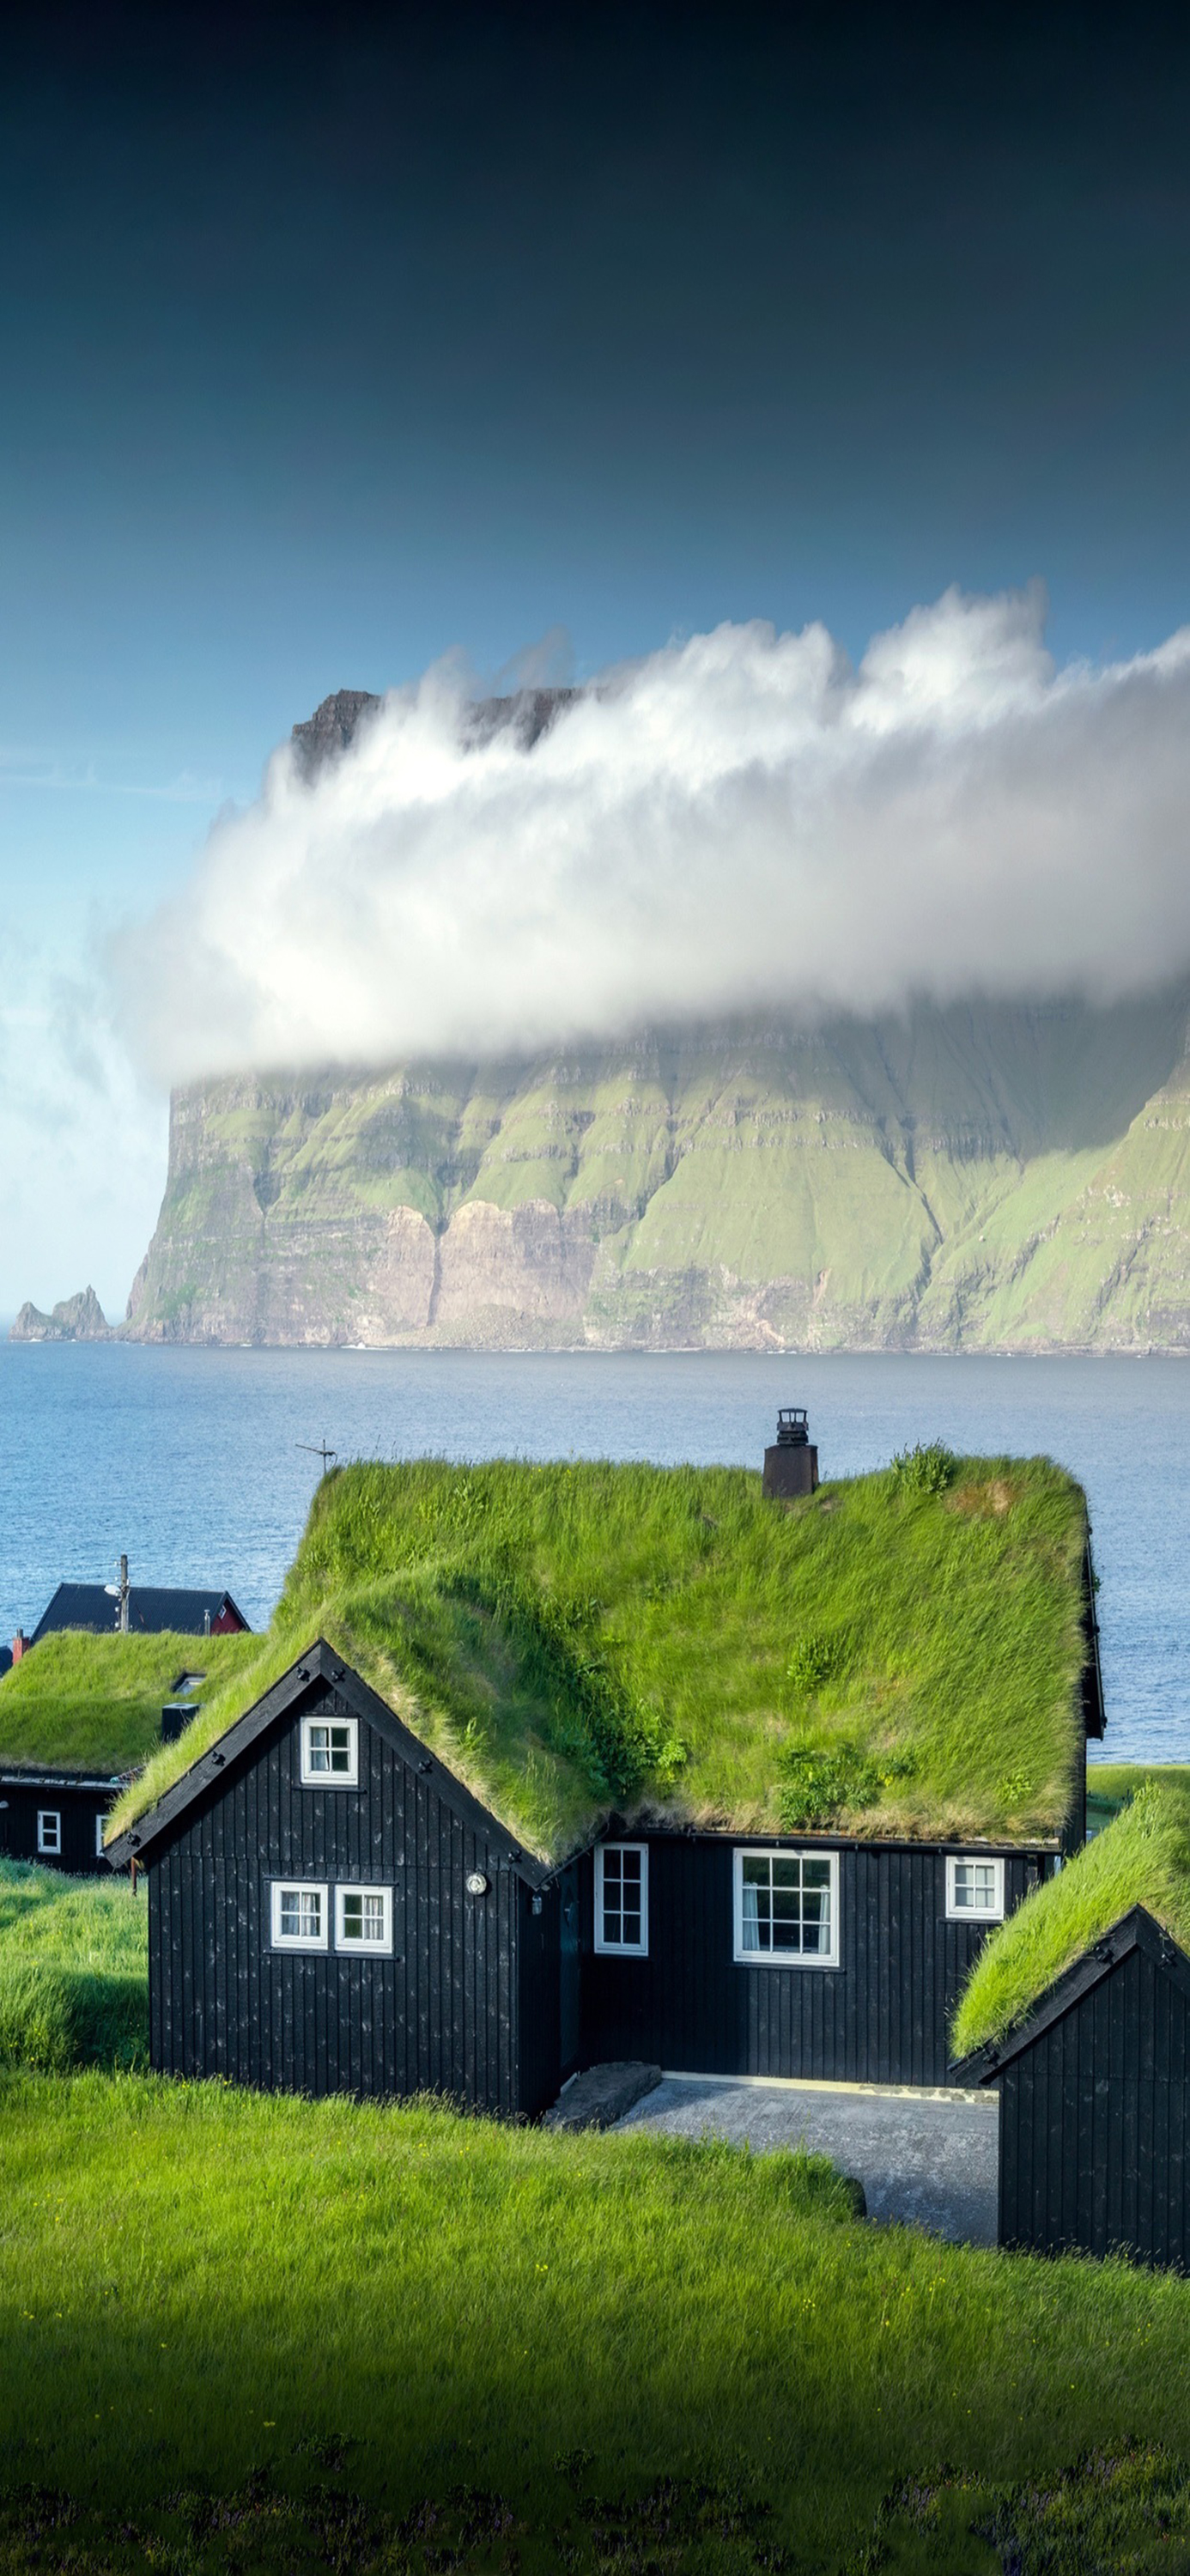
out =
{"type": "Polygon", "coordinates": [[[147,1870],[162,2074],[536,2117],[605,2058],[956,2081],[971,1960],[1059,1844],[610,1824],[549,1865],[317,1641],[108,1857],[147,1870]]]}

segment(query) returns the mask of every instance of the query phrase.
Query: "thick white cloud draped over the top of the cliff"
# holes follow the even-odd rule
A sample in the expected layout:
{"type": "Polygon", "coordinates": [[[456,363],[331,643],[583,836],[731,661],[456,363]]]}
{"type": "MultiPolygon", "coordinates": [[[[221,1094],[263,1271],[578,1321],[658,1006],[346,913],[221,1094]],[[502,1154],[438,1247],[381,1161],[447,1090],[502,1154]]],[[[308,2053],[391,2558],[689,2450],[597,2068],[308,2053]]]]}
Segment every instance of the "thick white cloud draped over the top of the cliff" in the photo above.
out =
{"type": "Polygon", "coordinates": [[[525,750],[453,665],[314,786],[288,752],[124,935],[160,1079],[531,1048],[755,1005],[1092,997],[1190,961],[1190,629],[1056,670],[1038,590],[914,608],[850,667],[721,626],[525,750]]]}

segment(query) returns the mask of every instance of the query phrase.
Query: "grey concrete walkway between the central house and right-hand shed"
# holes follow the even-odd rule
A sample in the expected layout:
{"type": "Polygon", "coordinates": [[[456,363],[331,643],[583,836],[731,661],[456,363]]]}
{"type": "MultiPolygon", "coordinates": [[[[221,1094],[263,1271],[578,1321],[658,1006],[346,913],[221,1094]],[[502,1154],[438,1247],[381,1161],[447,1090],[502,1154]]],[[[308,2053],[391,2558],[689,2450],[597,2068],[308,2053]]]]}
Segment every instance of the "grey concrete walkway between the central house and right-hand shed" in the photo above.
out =
{"type": "Polygon", "coordinates": [[[662,2076],[618,2128],[672,2138],[809,2146],[858,2174],[868,2218],[902,2218],[950,2244],[997,2241],[997,2094],[909,2094],[847,2084],[737,2084],[662,2076]]]}

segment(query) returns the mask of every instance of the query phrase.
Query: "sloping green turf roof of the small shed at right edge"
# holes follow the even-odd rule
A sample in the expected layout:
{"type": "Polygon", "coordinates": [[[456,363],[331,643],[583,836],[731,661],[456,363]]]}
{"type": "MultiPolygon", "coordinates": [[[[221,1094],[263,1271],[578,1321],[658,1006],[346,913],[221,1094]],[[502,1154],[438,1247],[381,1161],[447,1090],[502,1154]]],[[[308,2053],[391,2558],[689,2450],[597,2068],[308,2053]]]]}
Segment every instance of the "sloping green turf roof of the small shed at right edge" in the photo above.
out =
{"type": "Polygon", "coordinates": [[[1131,1906],[1146,1906],[1190,1950],[1190,1785],[1141,1783],[1102,1834],[999,1924],[958,1999],[956,2058],[1005,2038],[1131,1906]]]}

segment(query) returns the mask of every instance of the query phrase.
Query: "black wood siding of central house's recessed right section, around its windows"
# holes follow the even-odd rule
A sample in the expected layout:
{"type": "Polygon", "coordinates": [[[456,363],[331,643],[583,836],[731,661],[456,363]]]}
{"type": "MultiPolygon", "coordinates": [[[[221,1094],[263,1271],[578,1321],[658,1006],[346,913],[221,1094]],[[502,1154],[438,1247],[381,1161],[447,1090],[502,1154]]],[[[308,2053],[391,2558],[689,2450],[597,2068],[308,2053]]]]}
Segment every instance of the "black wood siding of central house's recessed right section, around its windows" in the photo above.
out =
{"type": "MultiPolygon", "coordinates": [[[[992,1924],[948,1922],[932,1844],[817,1844],[840,1855],[840,1965],[739,1965],[734,1850],[724,1837],[649,1847],[649,1958],[595,1950],[595,1865],[582,1862],[582,2061],[644,2058],[685,2074],[950,2084],[948,2020],[992,1924]]],[[[755,1837],[747,1850],[762,1850],[755,1837]]],[[[793,1837],[773,1850],[798,1850],[793,1837]]],[[[948,1850],[956,1850],[950,1844],[948,1850]]],[[[1005,1909],[1038,1857],[1005,1857],[1005,1909]]]]}

